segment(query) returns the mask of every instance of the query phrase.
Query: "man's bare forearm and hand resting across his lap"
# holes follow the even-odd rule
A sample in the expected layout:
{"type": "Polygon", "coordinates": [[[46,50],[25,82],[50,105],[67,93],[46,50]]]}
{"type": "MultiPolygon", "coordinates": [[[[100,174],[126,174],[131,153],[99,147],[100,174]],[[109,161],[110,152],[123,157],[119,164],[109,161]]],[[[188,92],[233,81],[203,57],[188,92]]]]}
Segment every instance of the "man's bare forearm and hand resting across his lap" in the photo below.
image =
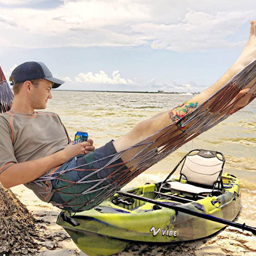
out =
{"type": "Polygon", "coordinates": [[[90,139],[75,145],[69,144],[63,150],[50,156],[12,164],[0,174],[0,182],[5,188],[31,182],[45,174],[49,169],[65,163],[70,158],[79,154],[87,154],[93,150],[93,140],[90,139]]]}

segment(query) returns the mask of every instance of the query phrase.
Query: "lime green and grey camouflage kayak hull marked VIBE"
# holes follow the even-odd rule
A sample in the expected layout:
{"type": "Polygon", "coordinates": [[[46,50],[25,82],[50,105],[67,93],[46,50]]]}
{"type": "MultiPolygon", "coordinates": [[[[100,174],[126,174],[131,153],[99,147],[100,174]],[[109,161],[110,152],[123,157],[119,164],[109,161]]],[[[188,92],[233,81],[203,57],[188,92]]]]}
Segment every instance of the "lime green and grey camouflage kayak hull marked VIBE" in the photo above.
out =
{"type": "MultiPolygon", "coordinates": [[[[156,199],[157,184],[146,184],[124,191],[168,204],[179,204],[193,211],[231,221],[236,218],[240,209],[239,181],[226,173],[223,175],[223,182],[225,193],[200,197],[198,200],[187,199],[189,195],[185,193],[179,195],[168,192],[167,196],[174,195],[172,199],[156,199]],[[181,203],[182,201],[184,202],[181,203]]],[[[62,211],[57,224],[65,228],[78,248],[89,255],[111,255],[123,250],[132,241],[173,243],[195,240],[224,227],[223,224],[152,203],[120,199],[117,194],[88,211],[76,214],[62,211]],[[65,216],[79,225],[73,226],[65,216]]]]}

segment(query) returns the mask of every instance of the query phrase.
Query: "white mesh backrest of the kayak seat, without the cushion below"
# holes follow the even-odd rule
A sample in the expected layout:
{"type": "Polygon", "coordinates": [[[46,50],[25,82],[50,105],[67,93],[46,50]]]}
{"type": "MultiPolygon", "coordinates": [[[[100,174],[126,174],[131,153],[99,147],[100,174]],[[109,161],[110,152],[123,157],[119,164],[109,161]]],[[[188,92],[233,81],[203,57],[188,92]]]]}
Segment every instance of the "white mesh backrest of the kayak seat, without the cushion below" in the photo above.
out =
{"type": "Polygon", "coordinates": [[[223,161],[217,157],[187,156],[181,169],[188,182],[213,186],[222,170],[223,161]]]}

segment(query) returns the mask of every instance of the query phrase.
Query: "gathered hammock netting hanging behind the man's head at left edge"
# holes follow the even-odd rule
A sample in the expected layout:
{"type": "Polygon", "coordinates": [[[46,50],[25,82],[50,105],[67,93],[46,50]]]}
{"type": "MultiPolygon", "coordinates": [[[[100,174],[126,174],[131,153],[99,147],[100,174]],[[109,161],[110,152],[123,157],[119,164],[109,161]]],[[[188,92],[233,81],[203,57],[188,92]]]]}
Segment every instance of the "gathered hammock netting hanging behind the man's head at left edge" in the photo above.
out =
{"type": "Polygon", "coordinates": [[[13,93],[0,66],[0,113],[11,109],[13,93]]]}

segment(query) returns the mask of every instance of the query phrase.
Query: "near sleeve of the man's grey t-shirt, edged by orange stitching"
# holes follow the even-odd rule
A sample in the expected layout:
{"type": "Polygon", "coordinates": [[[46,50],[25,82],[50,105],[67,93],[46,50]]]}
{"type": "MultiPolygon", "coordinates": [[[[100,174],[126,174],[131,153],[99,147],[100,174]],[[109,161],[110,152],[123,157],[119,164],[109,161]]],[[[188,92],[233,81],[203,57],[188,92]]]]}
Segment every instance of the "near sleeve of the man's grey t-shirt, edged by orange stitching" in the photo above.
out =
{"type": "Polygon", "coordinates": [[[12,137],[9,123],[0,118],[0,174],[9,166],[17,163],[12,145],[12,137]]]}

